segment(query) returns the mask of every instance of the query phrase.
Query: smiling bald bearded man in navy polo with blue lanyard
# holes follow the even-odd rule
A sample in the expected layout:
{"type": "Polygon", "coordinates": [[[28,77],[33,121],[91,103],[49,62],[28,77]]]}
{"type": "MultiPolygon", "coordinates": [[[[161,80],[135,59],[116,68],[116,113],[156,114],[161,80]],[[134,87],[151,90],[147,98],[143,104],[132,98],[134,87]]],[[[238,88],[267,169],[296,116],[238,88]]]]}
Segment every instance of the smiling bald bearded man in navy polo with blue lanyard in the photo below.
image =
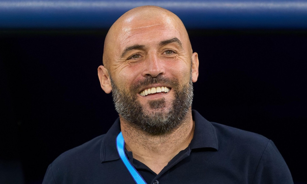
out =
{"type": "Polygon", "coordinates": [[[43,183],[293,183],[272,141],[192,111],[198,55],[168,10],[123,14],[107,33],[98,76],[119,118],[60,155],[43,183]]]}

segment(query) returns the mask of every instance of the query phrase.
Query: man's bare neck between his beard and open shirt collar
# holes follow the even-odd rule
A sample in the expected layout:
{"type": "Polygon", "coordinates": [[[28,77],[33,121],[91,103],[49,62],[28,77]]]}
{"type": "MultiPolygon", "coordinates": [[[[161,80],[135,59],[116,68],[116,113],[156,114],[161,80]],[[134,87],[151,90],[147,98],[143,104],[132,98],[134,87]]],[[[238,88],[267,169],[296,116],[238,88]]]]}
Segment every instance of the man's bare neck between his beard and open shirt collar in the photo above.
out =
{"type": "Polygon", "coordinates": [[[126,149],[132,151],[134,159],[144,163],[156,174],[181,150],[188,147],[194,133],[192,113],[173,132],[157,136],[132,127],[121,117],[120,122],[126,149]]]}

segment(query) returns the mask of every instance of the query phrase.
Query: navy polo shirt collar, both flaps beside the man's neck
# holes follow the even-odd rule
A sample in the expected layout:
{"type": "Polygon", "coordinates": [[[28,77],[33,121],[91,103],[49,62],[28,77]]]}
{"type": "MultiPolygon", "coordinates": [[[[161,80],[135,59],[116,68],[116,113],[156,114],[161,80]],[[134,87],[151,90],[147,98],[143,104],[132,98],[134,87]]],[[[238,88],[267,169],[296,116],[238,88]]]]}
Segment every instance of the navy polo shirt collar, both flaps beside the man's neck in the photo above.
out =
{"type": "MultiPolygon", "coordinates": [[[[213,148],[218,150],[216,130],[213,125],[200,115],[196,110],[192,110],[192,117],[195,121],[195,130],[190,144],[191,149],[213,148]]],[[[100,161],[107,162],[118,160],[119,155],[116,148],[116,137],[121,131],[120,121],[117,118],[109,131],[103,137],[100,147],[100,161]]]]}

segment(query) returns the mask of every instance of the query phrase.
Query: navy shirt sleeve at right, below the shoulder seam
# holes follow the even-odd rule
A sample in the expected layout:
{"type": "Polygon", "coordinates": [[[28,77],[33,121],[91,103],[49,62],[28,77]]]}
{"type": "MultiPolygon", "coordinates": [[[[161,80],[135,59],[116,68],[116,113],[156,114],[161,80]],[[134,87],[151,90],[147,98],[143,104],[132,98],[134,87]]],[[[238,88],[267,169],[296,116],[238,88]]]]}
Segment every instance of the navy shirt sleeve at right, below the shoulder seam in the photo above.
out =
{"type": "Polygon", "coordinates": [[[290,170],[271,140],[262,153],[253,183],[293,184],[290,170]]]}

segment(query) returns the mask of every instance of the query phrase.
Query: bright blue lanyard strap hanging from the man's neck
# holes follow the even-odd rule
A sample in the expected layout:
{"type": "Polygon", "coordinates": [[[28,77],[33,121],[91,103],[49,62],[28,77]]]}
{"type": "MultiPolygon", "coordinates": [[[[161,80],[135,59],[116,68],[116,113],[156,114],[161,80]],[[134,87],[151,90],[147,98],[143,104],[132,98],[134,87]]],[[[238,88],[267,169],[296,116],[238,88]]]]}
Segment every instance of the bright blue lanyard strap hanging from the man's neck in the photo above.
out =
{"type": "Polygon", "coordinates": [[[127,159],[127,156],[125,154],[125,141],[122,137],[122,132],[119,132],[117,138],[116,138],[116,147],[118,154],[120,156],[120,159],[122,159],[122,162],[127,167],[128,171],[130,172],[132,178],[137,184],[146,184],[145,180],[142,178],[142,176],[138,173],[137,170],[131,165],[129,160],[127,159]]]}

